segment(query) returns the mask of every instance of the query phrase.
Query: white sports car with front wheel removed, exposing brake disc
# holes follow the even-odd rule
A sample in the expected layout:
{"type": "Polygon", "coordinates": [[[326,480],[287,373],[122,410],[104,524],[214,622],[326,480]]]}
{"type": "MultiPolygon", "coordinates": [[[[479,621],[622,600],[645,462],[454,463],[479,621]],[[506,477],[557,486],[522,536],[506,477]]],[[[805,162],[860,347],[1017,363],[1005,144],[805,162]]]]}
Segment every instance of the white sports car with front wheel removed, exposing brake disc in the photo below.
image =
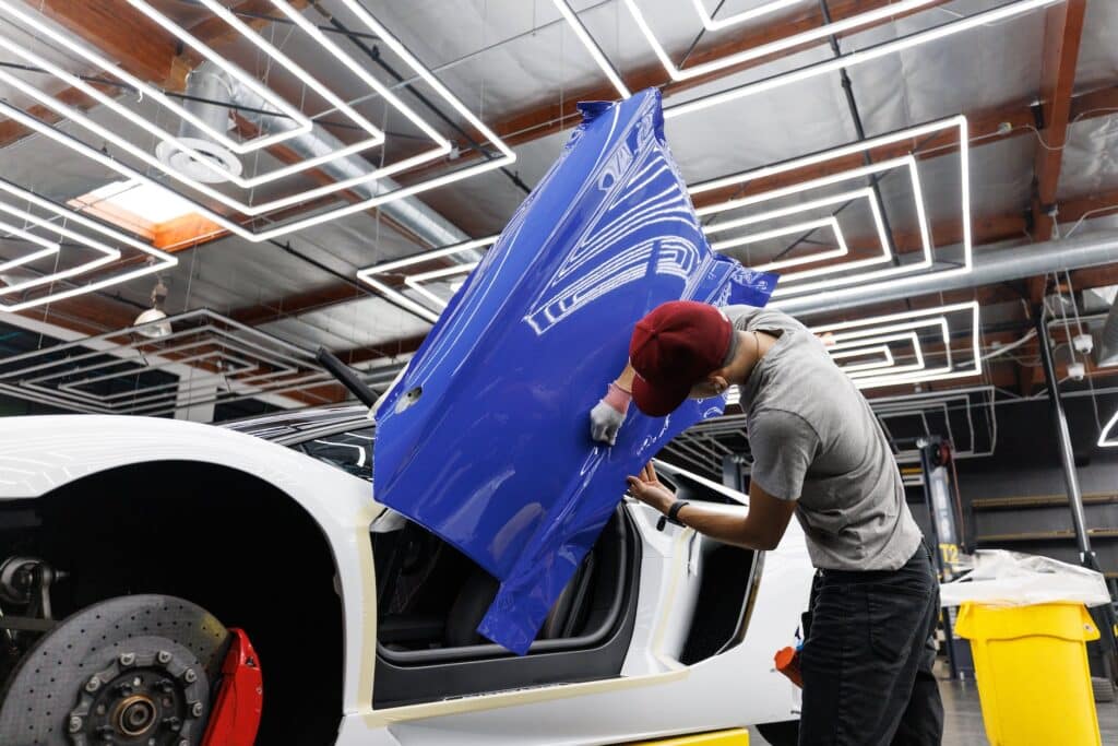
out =
{"type": "Polygon", "coordinates": [[[375,501],[363,407],[236,429],[0,421],[0,744],[745,744],[796,719],[773,663],[812,578],[795,521],[752,553],[618,495],[515,657],[475,632],[495,582],[375,501]]]}

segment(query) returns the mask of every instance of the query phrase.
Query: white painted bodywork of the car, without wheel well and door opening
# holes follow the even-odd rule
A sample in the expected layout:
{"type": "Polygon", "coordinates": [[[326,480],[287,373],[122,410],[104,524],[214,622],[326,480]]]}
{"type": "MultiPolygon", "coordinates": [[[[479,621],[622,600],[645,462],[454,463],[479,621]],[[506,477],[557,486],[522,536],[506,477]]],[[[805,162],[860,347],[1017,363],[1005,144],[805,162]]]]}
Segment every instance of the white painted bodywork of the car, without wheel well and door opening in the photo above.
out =
{"type": "MultiPolygon", "coordinates": [[[[192,461],[253,473],[302,506],[330,544],[341,591],[345,662],[339,746],[588,746],[796,717],[797,692],[771,663],[773,653],[792,642],[813,572],[795,523],[780,546],[766,553],[743,641],[709,660],[692,667],[678,660],[702,573],[691,561],[694,532],[672,526],[659,531],[653,512],[629,501],[641,537],[639,605],[618,678],[378,710],[369,526],[383,506],[370,499],[367,481],[295,450],[181,421],[58,415],[4,418],[2,426],[0,501],[34,499],[130,464],[192,461]]],[[[150,499],[159,500],[158,491],[150,499]]]]}

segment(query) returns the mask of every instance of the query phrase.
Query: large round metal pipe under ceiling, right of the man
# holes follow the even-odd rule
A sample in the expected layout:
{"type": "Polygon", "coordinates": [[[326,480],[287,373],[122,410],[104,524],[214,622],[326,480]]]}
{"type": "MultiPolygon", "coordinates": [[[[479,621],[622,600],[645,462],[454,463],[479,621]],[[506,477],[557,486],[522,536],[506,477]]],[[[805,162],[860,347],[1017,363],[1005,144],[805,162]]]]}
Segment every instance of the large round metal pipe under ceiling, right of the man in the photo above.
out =
{"type": "Polygon", "coordinates": [[[827,298],[817,293],[805,298],[774,301],[790,314],[841,311],[862,305],[900,301],[908,298],[1022,280],[1050,272],[1081,270],[1118,262],[1118,230],[1063,238],[1014,248],[976,252],[970,272],[929,272],[911,282],[874,282],[849,293],[827,298]]]}

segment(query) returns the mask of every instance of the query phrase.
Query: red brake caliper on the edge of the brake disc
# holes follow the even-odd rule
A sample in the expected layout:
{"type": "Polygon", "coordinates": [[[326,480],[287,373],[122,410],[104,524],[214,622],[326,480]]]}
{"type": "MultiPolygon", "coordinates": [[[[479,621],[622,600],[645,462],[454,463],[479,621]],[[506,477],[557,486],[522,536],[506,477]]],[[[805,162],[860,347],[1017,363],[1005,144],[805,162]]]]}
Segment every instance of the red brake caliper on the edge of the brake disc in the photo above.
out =
{"type": "Polygon", "coordinates": [[[244,630],[229,630],[233,643],[221,664],[221,688],[202,746],[253,746],[264,707],[264,678],[244,630]]]}

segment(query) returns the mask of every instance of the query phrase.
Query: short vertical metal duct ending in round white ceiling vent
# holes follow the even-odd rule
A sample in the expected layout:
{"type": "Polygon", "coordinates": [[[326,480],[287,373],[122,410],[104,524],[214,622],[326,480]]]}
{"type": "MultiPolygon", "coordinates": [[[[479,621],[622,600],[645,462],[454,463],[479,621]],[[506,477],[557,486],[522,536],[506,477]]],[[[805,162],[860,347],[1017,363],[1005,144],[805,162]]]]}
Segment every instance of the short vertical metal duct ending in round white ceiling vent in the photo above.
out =
{"type": "MultiPolygon", "coordinates": [[[[224,73],[218,74],[216,67],[207,68],[205,66],[191,72],[187,76],[186,95],[183,107],[195,117],[205,122],[211,131],[225,132],[229,129],[228,103],[233,100],[233,92],[229,87],[229,78],[224,73]],[[210,102],[225,102],[226,105],[210,102]]],[[[240,176],[240,160],[214,142],[205,130],[186,119],[179,125],[178,142],[159,143],[155,154],[159,160],[179,173],[203,183],[228,181],[229,178],[225,176],[226,173],[233,177],[240,176]],[[199,162],[183,148],[191,148],[218,168],[210,168],[199,162]]]]}

